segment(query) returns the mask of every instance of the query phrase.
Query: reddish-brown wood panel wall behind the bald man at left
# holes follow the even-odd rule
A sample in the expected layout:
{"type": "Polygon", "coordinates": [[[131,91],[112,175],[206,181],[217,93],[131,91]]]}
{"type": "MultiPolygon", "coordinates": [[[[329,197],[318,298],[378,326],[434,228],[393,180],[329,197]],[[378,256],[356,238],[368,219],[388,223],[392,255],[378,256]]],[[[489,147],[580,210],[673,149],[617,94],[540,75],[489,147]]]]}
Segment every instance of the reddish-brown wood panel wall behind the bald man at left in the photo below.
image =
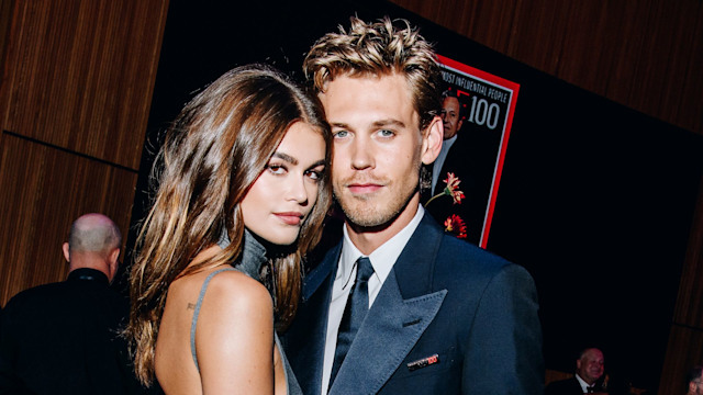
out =
{"type": "Polygon", "coordinates": [[[66,278],[85,213],[126,238],[168,0],[1,0],[0,305],[66,278]]]}

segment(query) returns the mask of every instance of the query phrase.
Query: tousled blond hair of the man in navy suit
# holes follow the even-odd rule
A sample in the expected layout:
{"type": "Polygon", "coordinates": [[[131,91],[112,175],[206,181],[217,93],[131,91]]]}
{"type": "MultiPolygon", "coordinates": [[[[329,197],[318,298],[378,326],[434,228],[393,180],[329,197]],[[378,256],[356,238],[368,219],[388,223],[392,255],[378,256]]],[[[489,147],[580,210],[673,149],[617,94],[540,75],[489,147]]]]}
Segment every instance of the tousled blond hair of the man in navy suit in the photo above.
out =
{"type": "Polygon", "coordinates": [[[442,109],[442,77],[432,45],[406,20],[350,20],[348,33],[339,26],[339,33],[327,33],[312,46],[303,61],[305,78],[320,93],[339,76],[402,75],[420,114],[420,128],[427,127],[442,109]]]}

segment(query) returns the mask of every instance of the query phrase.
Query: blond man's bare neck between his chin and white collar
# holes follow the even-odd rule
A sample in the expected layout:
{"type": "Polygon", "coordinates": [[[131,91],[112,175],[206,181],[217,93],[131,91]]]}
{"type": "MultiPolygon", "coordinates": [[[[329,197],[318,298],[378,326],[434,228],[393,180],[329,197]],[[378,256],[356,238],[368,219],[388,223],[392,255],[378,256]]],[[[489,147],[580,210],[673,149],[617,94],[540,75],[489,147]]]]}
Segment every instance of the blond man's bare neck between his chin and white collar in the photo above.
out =
{"type": "Polygon", "coordinates": [[[356,248],[359,249],[365,256],[371,255],[378,247],[382,246],[386,241],[390,240],[393,236],[398,235],[417,213],[417,206],[420,205],[420,193],[410,199],[403,211],[391,222],[379,227],[360,227],[356,226],[347,221],[346,226],[349,234],[349,239],[356,248]]]}

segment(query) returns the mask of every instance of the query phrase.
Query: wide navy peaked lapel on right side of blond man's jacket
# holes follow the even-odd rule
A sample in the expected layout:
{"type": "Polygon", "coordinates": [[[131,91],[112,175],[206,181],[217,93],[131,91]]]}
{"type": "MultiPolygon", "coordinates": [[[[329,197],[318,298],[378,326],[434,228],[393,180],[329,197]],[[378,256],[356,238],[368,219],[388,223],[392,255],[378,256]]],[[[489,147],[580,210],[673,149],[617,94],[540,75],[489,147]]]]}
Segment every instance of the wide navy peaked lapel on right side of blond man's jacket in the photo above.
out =
{"type": "Polygon", "coordinates": [[[431,272],[438,248],[432,224],[423,219],[398,258],[349,348],[330,395],[350,391],[378,393],[439,311],[447,291],[431,292],[431,272]],[[409,268],[411,273],[401,275],[409,268]],[[402,283],[401,279],[414,283],[402,283]]]}

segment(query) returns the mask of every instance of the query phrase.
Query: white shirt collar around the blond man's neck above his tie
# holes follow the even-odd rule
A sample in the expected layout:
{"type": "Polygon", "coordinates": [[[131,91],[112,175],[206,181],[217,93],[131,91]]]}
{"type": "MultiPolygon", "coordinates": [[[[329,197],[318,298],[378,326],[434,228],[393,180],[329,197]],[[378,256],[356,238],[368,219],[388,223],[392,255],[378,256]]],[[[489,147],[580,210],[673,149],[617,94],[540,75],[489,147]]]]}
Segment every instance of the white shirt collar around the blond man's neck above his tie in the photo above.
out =
{"type": "MultiPolygon", "coordinates": [[[[402,228],[395,236],[391,237],[388,241],[383,242],[373,252],[369,255],[369,260],[371,261],[371,266],[373,267],[373,275],[377,275],[381,283],[386,281],[386,278],[391,272],[395,260],[405,248],[405,245],[410,240],[413,233],[420,225],[423,215],[425,214],[425,210],[422,205],[417,206],[417,212],[415,216],[410,221],[404,228],[402,228]]],[[[344,279],[349,279],[352,275],[352,269],[354,268],[354,263],[359,257],[364,256],[361,251],[352,242],[349,238],[349,233],[347,230],[347,225],[344,225],[344,238],[342,241],[342,257],[339,259],[339,270],[337,270],[337,279],[343,276],[344,279]]],[[[346,281],[345,281],[346,283],[346,281]]]]}

